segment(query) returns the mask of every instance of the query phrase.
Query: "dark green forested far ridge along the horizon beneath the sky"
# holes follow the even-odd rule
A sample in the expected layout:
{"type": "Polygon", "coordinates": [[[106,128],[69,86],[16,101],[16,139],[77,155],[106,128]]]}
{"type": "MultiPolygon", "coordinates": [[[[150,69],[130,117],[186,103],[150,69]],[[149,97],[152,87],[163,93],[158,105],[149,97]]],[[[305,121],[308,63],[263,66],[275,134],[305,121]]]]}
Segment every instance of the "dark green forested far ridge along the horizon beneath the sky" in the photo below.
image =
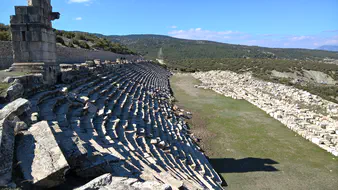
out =
{"type": "Polygon", "coordinates": [[[157,58],[162,48],[164,59],[199,59],[199,58],[256,58],[288,60],[323,60],[338,59],[338,53],[323,50],[266,48],[258,46],[235,45],[205,40],[186,40],[164,35],[126,35],[104,36],[112,42],[121,43],[129,49],[148,58],[157,58]]]}

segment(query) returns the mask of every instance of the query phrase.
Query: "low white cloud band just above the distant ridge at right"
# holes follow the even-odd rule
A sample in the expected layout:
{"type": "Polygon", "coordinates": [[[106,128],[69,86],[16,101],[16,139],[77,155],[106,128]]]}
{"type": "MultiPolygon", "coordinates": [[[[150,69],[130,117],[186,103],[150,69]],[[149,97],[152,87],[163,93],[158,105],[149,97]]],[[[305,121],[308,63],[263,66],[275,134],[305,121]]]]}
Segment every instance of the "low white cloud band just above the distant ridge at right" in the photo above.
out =
{"type": "Polygon", "coordinates": [[[281,48],[317,48],[322,45],[338,45],[338,36],[327,33],[313,35],[250,34],[226,30],[211,31],[202,28],[172,30],[172,37],[191,40],[210,40],[231,44],[255,45],[281,48]]]}

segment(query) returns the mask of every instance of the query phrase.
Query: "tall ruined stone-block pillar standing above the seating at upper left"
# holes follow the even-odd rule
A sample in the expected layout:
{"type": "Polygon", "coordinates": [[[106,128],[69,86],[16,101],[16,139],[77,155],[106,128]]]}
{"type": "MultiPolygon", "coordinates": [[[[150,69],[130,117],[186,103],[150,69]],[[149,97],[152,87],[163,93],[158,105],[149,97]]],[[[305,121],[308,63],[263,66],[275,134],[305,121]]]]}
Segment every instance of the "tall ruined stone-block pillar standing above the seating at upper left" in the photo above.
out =
{"type": "Polygon", "coordinates": [[[56,82],[60,68],[56,63],[56,37],[51,0],[28,0],[28,6],[16,6],[11,16],[15,71],[42,73],[47,83],[56,82]]]}

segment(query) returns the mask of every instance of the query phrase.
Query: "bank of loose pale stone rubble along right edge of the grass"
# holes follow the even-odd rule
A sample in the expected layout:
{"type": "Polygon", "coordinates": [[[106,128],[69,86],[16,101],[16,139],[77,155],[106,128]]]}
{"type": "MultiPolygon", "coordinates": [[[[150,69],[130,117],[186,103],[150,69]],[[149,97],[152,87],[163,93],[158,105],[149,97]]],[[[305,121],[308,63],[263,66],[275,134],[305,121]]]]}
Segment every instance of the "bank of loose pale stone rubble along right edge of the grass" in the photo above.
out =
{"type": "Polygon", "coordinates": [[[338,104],[297,88],[266,82],[250,73],[230,71],[194,73],[202,84],[234,99],[245,99],[288,128],[338,156],[338,104]]]}

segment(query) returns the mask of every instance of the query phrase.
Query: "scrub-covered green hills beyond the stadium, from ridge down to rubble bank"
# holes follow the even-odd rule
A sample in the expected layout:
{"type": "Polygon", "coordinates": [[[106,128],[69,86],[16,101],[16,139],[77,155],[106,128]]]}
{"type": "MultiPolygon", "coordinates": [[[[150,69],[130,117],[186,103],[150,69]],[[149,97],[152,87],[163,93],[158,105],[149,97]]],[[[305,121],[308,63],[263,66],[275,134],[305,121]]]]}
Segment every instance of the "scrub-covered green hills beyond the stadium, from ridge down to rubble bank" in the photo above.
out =
{"type": "MultiPolygon", "coordinates": [[[[99,35],[100,36],[100,35],[99,35]]],[[[252,72],[254,76],[272,82],[292,85],[313,94],[338,102],[338,86],[278,78],[272,71],[297,72],[304,77],[305,70],[320,71],[338,81],[338,52],[265,48],[225,44],[201,40],[184,40],[160,35],[106,36],[109,40],[126,45],[141,55],[156,59],[161,56],[166,67],[183,72],[231,70],[252,72]],[[329,60],[329,61],[328,61],[329,60]]]]}

